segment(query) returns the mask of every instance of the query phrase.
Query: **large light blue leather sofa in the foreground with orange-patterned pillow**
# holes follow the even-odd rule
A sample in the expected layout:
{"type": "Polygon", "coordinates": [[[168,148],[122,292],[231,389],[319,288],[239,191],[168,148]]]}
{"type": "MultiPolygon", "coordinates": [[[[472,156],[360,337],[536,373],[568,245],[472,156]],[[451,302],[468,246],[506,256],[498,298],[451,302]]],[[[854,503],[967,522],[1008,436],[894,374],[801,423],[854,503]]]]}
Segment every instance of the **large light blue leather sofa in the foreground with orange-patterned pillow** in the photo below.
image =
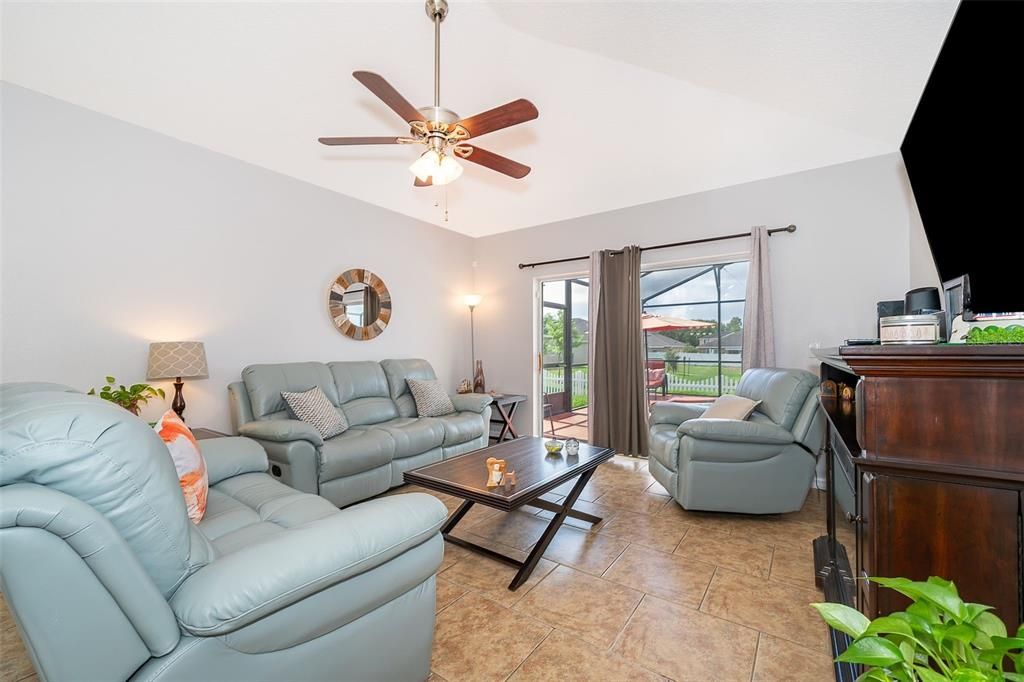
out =
{"type": "Polygon", "coordinates": [[[444,506],[339,511],[268,476],[253,440],[201,446],[197,525],[142,420],[0,386],[0,589],[40,679],[426,679],[444,506]]]}

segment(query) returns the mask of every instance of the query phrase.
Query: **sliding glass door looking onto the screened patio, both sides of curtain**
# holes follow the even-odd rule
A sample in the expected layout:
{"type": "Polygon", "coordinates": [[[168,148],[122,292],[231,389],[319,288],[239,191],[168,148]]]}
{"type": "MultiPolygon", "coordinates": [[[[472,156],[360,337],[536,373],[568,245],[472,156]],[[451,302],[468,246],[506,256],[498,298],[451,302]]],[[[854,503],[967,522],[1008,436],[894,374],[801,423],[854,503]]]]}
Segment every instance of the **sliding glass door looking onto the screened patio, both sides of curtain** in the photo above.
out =
{"type": "MultiPolygon", "coordinates": [[[[733,393],[743,347],[746,261],[650,269],[640,281],[651,401],[733,393]]],[[[538,401],[546,437],[590,435],[590,282],[540,283],[538,401]]]]}

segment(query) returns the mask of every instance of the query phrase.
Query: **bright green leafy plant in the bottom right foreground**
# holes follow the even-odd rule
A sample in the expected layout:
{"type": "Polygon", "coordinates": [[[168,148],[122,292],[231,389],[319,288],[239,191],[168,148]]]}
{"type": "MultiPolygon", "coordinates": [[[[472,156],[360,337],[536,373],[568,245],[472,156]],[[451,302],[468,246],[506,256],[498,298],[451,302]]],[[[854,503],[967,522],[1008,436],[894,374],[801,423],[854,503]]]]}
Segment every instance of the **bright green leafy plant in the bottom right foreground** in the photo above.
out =
{"type": "Polygon", "coordinates": [[[811,604],[825,623],[853,637],[837,660],[864,666],[858,681],[1024,682],[1024,626],[1008,637],[991,606],[965,602],[941,578],[869,580],[913,603],[873,621],[843,604],[811,604]]]}

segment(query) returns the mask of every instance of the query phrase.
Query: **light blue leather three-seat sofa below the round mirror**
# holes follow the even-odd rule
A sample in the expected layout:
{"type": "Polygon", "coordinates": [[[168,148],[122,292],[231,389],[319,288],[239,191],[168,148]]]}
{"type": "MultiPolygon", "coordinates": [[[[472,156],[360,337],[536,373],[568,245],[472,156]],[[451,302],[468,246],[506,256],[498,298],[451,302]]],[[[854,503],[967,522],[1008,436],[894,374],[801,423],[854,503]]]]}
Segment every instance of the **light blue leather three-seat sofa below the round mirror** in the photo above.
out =
{"type": "Polygon", "coordinates": [[[237,432],[263,445],[270,473],[344,507],[400,485],[410,469],[486,446],[489,395],[453,395],[453,414],[417,415],[406,380],[436,378],[423,359],[252,365],[227,390],[237,432]],[[327,441],[281,397],[313,386],[350,425],[327,441]]]}

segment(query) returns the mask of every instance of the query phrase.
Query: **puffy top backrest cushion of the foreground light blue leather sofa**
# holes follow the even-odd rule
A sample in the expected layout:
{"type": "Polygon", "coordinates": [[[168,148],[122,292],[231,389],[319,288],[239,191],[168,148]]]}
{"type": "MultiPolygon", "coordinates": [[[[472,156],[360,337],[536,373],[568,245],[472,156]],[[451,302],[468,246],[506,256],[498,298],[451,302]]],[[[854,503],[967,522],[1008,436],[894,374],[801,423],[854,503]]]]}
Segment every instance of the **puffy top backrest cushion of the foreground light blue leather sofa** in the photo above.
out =
{"type": "Polygon", "coordinates": [[[35,483],[89,505],[169,597],[209,556],[205,547],[193,550],[198,534],[167,446],[116,404],[38,388],[0,390],[0,485],[35,483]]]}

